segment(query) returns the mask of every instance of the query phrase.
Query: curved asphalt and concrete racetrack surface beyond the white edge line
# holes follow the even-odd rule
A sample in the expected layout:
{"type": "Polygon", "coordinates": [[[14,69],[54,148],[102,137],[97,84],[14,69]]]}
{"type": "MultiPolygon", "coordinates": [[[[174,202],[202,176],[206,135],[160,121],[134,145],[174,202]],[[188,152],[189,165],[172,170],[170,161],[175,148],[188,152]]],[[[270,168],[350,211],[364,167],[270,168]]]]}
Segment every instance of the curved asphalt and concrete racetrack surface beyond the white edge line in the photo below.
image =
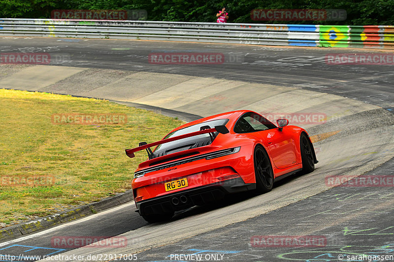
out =
{"type": "MultiPolygon", "coordinates": [[[[333,53],[390,53],[0,37],[0,53],[17,52],[49,53],[53,59],[49,65],[0,65],[0,88],[106,98],[187,121],[236,109],[271,115],[324,114],[327,121],[293,122],[314,136],[319,163],[313,173],[283,179],[269,193],[231,196],[224,203],[194,207],[160,224],[146,223],[130,202],[2,242],[1,255],[52,254],[67,256],[52,261],[92,261],[87,257],[91,254],[95,261],[109,261],[115,254],[118,260],[127,254],[122,261],[143,262],[368,261],[351,256],[394,256],[393,185],[332,187],[327,182],[328,176],[337,175],[394,175],[393,64],[337,65],[326,60],[333,53]],[[220,53],[225,61],[218,65],[148,61],[151,53],[190,52],[220,53]],[[51,243],[57,236],[99,235],[119,235],[127,245],[56,249],[51,243]],[[263,242],[278,235],[319,237],[323,244],[263,242]]],[[[0,261],[10,260],[0,257],[0,261]]],[[[394,261],[394,257],[379,261],[394,261]]]]}

